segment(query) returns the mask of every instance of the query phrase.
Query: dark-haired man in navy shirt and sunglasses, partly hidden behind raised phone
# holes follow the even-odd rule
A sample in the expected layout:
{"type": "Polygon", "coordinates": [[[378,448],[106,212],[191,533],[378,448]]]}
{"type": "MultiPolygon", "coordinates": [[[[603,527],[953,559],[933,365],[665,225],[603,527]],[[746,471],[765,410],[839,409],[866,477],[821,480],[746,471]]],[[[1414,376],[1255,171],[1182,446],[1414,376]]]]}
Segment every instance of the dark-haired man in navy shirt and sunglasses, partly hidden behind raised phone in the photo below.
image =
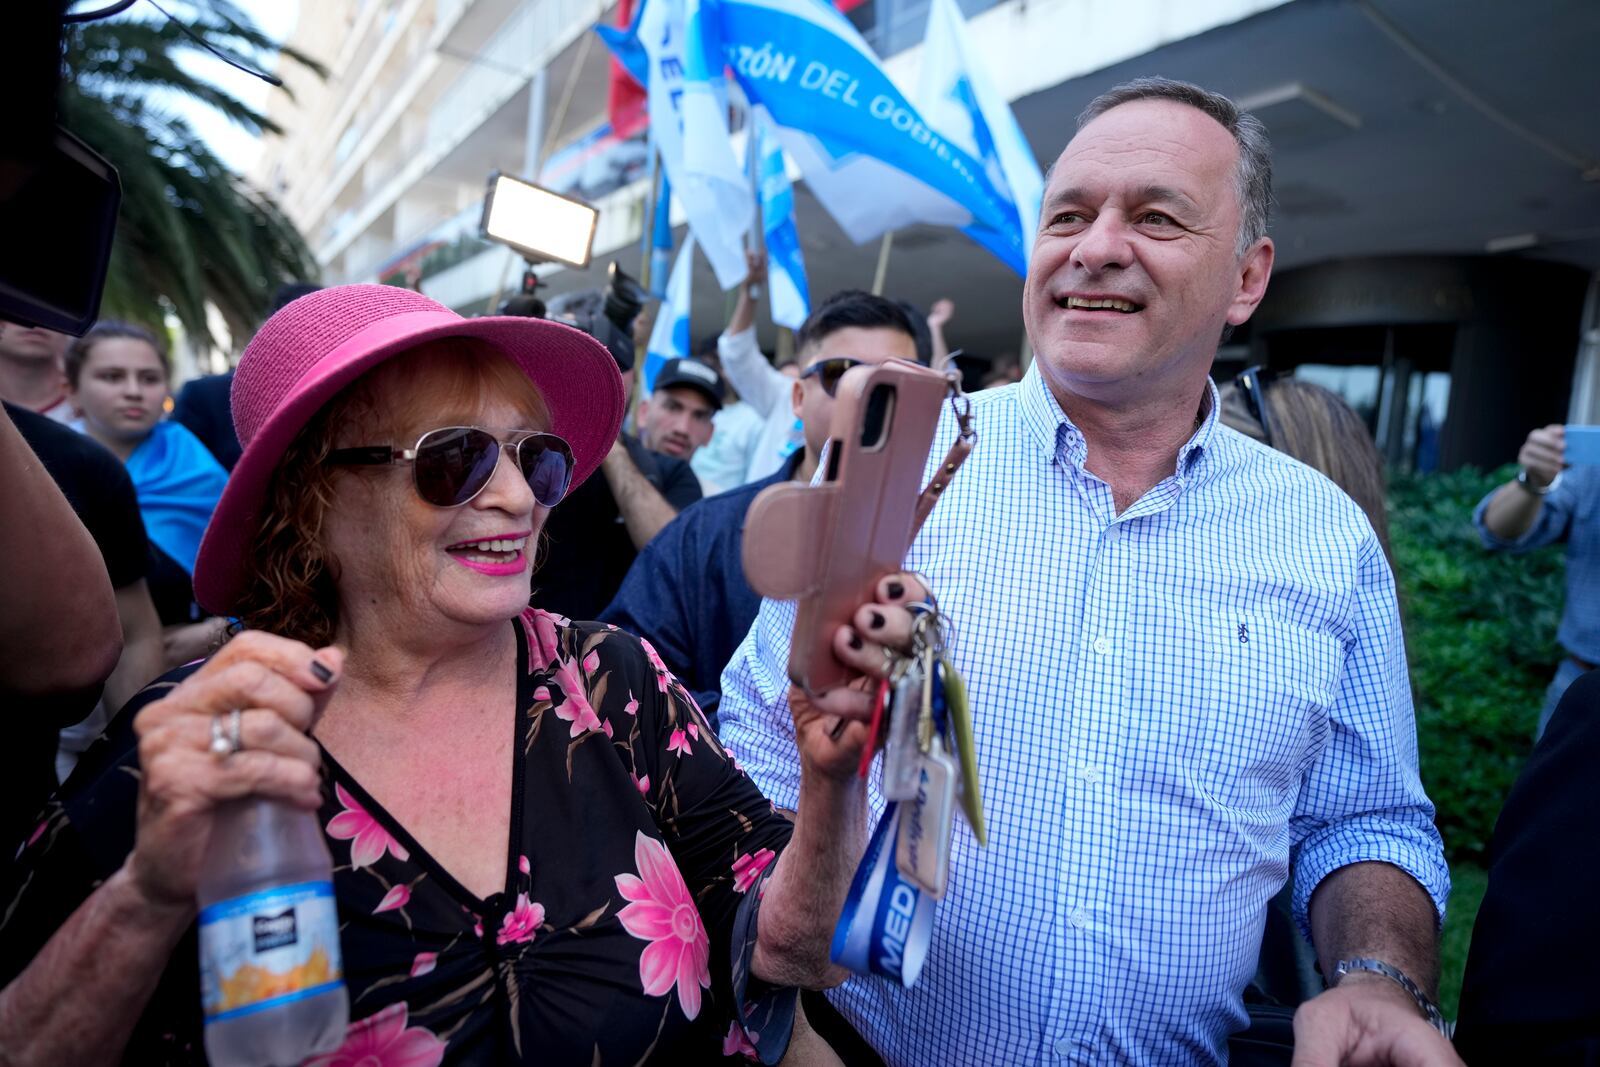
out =
{"type": "Polygon", "coordinates": [[[770,485],[816,472],[834,390],[858,363],[918,360],[917,326],[906,307],[859,290],[827,298],[795,338],[800,365],[790,406],[805,424],[805,448],[778,472],[686,507],[646,544],[616,598],[600,613],[650,641],[717,723],[718,680],[744,640],[762,598],[744,577],[744,514],[770,485]]]}

